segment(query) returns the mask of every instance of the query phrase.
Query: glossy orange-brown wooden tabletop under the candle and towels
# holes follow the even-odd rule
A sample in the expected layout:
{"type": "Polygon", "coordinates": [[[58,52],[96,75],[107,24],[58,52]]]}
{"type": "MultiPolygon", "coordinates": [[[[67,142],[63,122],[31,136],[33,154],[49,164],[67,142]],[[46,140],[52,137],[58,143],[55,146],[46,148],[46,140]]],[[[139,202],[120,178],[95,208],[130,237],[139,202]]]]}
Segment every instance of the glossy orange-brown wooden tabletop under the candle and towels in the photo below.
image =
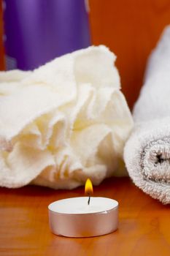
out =
{"type": "Polygon", "coordinates": [[[120,203],[119,229],[94,238],[65,238],[50,233],[49,203],[84,195],[28,186],[1,188],[0,255],[170,255],[170,206],[145,195],[129,178],[110,178],[94,187],[94,195],[120,203]]]}

